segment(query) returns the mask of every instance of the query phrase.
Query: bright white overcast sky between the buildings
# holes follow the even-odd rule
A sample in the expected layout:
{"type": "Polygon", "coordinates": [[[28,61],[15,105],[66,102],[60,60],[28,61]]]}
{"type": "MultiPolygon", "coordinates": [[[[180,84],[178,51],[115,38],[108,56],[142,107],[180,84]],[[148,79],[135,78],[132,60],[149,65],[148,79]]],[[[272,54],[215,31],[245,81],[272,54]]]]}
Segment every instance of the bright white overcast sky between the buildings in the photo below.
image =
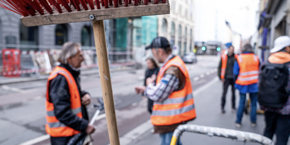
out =
{"type": "Polygon", "coordinates": [[[225,20],[233,31],[247,39],[257,30],[257,11],[259,0],[194,0],[195,1],[195,35],[197,41],[215,39],[217,22],[218,41],[222,41],[225,20]]]}

